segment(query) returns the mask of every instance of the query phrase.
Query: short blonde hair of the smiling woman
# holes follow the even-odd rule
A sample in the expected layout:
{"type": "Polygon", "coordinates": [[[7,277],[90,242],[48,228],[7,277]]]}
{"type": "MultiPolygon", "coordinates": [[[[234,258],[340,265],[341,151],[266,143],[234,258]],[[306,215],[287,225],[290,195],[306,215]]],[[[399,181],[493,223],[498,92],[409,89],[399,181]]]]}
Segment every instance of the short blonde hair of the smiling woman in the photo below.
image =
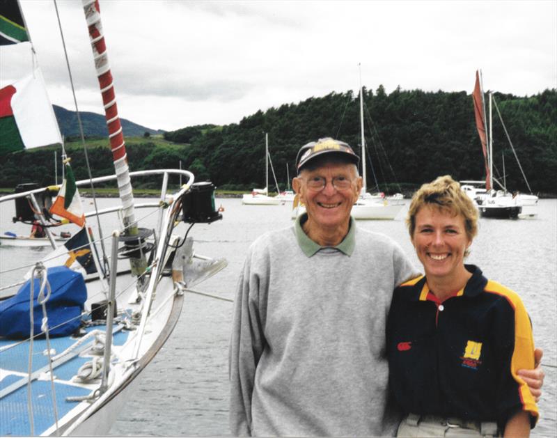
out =
{"type": "Polygon", "coordinates": [[[425,205],[464,217],[469,240],[473,240],[478,234],[478,209],[450,175],[439,176],[436,180],[427,182],[412,196],[406,219],[410,237],[414,236],[416,230],[416,214],[425,205]]]}

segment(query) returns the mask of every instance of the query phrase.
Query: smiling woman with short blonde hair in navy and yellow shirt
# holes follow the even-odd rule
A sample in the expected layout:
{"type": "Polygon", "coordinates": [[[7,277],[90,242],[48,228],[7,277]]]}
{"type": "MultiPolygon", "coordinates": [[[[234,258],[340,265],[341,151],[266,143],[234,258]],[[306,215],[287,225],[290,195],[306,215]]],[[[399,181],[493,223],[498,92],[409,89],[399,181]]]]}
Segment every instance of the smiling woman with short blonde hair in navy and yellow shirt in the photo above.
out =
{"type": "Polygon", "coordinates": [[[407,414],[399,437],[526,437],[538,420],[517,377],[534,367],[526,308],[515,292],[464,265],[477,221],[448,175],[412,198],[407,224],[425,276],[395,289],[387,323],[389,383],[407,414]]]}

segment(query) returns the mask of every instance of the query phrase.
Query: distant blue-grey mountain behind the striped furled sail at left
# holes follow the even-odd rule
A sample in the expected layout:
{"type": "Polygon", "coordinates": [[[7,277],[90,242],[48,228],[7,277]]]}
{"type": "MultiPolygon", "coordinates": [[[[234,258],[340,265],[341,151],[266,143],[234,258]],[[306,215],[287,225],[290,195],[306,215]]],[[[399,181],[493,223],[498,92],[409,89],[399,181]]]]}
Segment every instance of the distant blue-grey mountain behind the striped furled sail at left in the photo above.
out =
{"type": "MultiPolygon", "coordinates": [[[[75,111],[69,111],[58,105],[52,105],[54,114],[58,120],[60,131],[63,136],[79,136],[79,125],[77,123],[77,116],[75,111]]],[[[107,122],[102,114],[91,113],[87,111],[80,111],[81,125],[85,136],[106,136],[108,133],[107,122]]],[[[142,136],[146,132],[149,134],[162,134],[162,130],[152,130],[149,127],[138,125],[137,123],[130,122],[125,118],[120,118],[124,135],[127,136],[142,136]]]]}

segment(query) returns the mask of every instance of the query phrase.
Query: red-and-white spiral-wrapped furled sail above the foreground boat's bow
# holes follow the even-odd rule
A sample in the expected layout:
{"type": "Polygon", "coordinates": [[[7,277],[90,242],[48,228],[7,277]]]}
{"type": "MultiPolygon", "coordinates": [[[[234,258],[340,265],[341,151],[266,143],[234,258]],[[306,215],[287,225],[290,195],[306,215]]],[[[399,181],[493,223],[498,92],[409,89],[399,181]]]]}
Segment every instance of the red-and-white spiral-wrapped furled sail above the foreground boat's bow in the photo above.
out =
{"type": "MultiPolygon", "coordinates": [[[[138,236],[137,243],[139,244],[139,228],[137,227],[135,219],[134,194],[132,191],[132,182],[130,180],[130,169],[127,165],[124,134],[122,125],[120,125],[120,117],[118,116],[116,93],[114,91],[112,73],[110,70],[107,45],[102,33],[100,6],[98,0],[81,0],[81,3],[84,8],[89,29],[89,38],[91,40],[91,48],[93,49],[93,57],[95,59],[95,70],[97,70],[97,79],[99,80],[102,103],[104,104],[104,114],[107,119],[112,159],[117,175],[120,200],[122,201],[123,223],[126,227],[125,234],[129,236],[138,236]]],[[[130,258],[132,274],[135,276],[143,274],[147,267],[147,261],[143,255],[143,251],[139,252],[141,252],[141,256],[138,258],[130,258]]]]}

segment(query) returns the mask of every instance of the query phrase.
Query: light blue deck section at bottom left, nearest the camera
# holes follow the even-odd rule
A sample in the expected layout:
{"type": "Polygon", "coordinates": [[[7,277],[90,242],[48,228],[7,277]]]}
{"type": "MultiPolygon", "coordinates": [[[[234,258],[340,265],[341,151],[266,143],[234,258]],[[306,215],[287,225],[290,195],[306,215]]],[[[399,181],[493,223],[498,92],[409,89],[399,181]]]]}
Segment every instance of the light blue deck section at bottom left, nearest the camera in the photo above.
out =
{"type": "MultiPolygon", "coordinates": [[[[21,377],[8,376],[1,386],[7,386],[21,377]],[[6,384],[4,382],[6,381],[6,384]]],[[[78,402],[67,402],[69,396],[87,396],[91,391],[77,386],[54,384],[58,418],[70,412],[78,402]]],[[[34,435],[40,435],[54,424],[52,391],[50,382],[35,380],[31,384],[34,435]]],[[[31,434],[29,412],[27,410],[27,386],[24,385],[0,400],[0,436],[26,436],[31,434]]]]}

